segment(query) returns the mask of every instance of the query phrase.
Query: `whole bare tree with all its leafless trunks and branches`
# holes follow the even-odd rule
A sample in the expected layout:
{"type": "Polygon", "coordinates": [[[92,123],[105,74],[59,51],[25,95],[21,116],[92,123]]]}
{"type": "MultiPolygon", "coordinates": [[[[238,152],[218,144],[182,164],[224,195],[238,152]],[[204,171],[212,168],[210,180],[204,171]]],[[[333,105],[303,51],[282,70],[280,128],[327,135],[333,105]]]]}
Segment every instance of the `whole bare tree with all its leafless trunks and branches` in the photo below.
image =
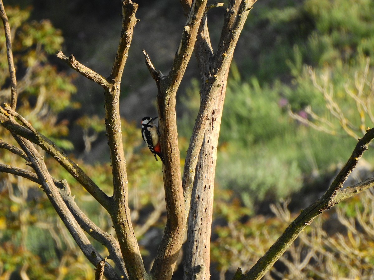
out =
{"type": "MultiPolygon", "coordinates": [[[[223,4],[217,3],[209,6],[206,0],[181,0],[187,22],[184,25],[172,67],[167,75],[155,69],[144,51],[146,65],[156,81],[158,90],[157,108],[161,150],[165,159],[163,181],[167,212],[163,237],[149,272],[144,267],[130,217],[128,177],[119,115],[121,77],[128,57],[133,29],[137,22],[135,13],[138,4],[132,3],[131,0],[122,1],[121,37],[109,77],[105,78],[82,65],[73,55],[67,57],[61,51],[57,54],[71,68],[104,88],[105,124],[113,174],[113,196],[108,196],[61,149],[16,112],[17,89],[10,28],[3,3],[0,1],[0,16],[4,22],[6,34],[12,88],[11,105],[5,104],[0,109],[0,124],[10,131],[21,149],[4,142],[1,142],[0,146],[26,159],[34,172],[3,164],[0,165],[0,171],[25,177],[42,185],[77,245],[96,267],[96,279],[102,279],[103,274],[107,279],[171,279],[186,234],[184,279],[209,279],[215,164],[227,77],[237,40],[255,1],[229,1],[220,40],[217,50],[214,51],[209,39],[206,13],[209,9],[223,4]],[[181,176],[175,111],[176,94],[193,52],[197,58],[201,77],[200,109],[181,176]],[[107,210],[113,221],[117,239],[101,230],[79,209],[73,200],[67,181],[52,178],[33,143],[52,156],[107,210]],[[108,258],[114,261],[117,270],[105,262],[105,258],[91,245],[83,230],[108,249],[110,253],[108,258]]],[[[243,275],[238,269],[234,279],[262,277],[291,245],[301,230],[317,215],[339,201],[373,185],[374,180],[371,178],[356,186],[341,190],[343,182],[367,150],[373,137],[374,130],[367,130],[325,195],[301,212],[300,216],[289,225],[285,233],[247,274],[243,275]]]]}

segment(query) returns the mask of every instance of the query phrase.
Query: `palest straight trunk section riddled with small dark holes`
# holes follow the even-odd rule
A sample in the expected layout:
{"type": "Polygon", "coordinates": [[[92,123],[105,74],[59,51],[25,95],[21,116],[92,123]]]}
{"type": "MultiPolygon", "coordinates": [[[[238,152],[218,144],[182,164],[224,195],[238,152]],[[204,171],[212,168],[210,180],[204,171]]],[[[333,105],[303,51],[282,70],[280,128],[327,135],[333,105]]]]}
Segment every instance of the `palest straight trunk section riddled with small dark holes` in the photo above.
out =
{"type": "Polygon", "coordinates": [[[215,95],[208,128],[205,131],[199,161],[196,165],[187,231],[186,264],[190,266],[185,269],[185,280],[210,278],[210,237],[213,217],[215,165],[228,72],[227,70],[223,80],[224,84],[215,95]]]}

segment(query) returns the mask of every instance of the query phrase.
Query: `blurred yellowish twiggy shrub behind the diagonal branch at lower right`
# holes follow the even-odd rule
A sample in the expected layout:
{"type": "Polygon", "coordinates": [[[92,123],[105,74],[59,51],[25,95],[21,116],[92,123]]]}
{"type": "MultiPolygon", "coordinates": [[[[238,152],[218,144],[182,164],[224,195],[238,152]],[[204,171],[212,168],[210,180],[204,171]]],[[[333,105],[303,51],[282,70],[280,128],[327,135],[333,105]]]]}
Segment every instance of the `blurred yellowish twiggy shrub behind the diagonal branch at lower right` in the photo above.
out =
{"type": "MultiPolygon", "coordinates": [[[[257,216],[245,223],[226,218],[217,227],[212,249],[221,279],[237,267],[248,271],[294,218],[287,203],[272,205],[276,217],[257,216]]],[[[231,211],[237,212],[237,205],[231,211]]],[[[374,195],[367,191],[318,217],[304,230],[264,279],[371,279],[374,273],[374,195]],[[354,217],[352,217],[354,211],[354,217]]]]}

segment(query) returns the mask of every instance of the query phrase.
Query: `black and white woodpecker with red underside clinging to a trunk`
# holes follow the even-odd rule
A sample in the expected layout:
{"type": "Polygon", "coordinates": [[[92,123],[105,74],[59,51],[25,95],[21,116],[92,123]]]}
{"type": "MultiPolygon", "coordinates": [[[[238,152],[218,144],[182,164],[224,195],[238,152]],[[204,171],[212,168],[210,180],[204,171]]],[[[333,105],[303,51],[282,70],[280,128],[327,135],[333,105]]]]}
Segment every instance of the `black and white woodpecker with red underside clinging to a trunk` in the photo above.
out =
{"type": "Polygon", "coordinates": [[[156,118],[144,117],[141,121],[141,135],[145,143],[147,143],[148,148],[154,155],[156,161],[158,161],[157,156],[160,157],[163,162],[163,157],[161,155],[161,146],[160,146],[160,131],[159,127],[153,123],[156,118]]]}

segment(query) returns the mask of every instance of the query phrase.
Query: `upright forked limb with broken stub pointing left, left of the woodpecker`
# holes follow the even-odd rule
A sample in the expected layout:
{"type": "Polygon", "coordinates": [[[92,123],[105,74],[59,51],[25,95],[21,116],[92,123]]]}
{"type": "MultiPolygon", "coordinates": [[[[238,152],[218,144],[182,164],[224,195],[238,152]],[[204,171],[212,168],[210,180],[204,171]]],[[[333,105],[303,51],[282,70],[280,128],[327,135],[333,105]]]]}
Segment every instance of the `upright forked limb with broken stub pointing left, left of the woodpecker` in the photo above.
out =
{"type": "Polygon", "coordinates": [[[108,78],[88,72],[90,70],[80,63],[73,67],[76,60],[66,59],[61,54],[58,56],[65,59],[70,66],[90,80],[104,87],[105,97],[105,126],[110,150],[111,167],[113,174],[113,203],[107,208],[116,231],[123,259],[130,279],[147,279],[143,260],[140,255],[139,245],[135,237],[128,206],[128,177],[126,172],[126,159],[123,152],[121,118],[119,108],[120,83],[125,67],[128,51],[132,40],[134,26],[137,23],[135,12],[138,4],[131,0],[122,1],[122,30],[114,59],[113,68],[108,78]]]}

